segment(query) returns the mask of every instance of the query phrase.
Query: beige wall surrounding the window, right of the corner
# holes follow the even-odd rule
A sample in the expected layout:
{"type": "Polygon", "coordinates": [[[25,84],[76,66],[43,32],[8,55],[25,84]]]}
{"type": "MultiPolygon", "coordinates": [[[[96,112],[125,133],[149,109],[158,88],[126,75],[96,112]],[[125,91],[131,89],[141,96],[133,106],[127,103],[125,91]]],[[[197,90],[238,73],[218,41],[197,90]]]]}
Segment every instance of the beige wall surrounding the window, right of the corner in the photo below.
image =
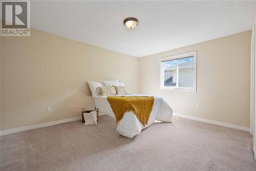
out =
{"type": "Polygon", "coordinates": [[[182,115],[249,127],[250,42],[246,31],[140,58],[139,92],[163,96],[182,115]],[[160,90],[159,58],[191,51],[197,51],[197,92],[160,90]]]}

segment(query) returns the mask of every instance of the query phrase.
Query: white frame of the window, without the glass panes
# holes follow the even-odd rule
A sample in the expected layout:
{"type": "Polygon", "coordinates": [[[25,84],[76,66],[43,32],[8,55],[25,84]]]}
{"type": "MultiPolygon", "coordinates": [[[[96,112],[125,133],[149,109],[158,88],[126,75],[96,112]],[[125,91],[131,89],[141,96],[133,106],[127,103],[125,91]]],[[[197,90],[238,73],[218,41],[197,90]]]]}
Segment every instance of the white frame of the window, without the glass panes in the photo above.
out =
{"type": "Polygon", "coordinates": [[[182,90],[182,91],[193,91],[196,92],[197,91],[197,51],[193,51],[193,52],[188,52],[188,53],[182,53],[182,54],[177,54],[177,55],[172,55],[172,56],[167,56],[164,58],[160,58],[159,59],[159,66],[160,66],[160,90],[182,90]],[[186,88],[186,87],[179,87],[177,88],[178,84],[179,84],[179,66],[177,65],[177,81],[176,81],[176,87],[164,87],[163,85],[163,67],[162,64],[164,61],[170,61],[170,60],[178,60],[178,59],[182,59],[182,58],[187,58],[189,56],[194,56],[194,87],[193,88],[186,88]]]}

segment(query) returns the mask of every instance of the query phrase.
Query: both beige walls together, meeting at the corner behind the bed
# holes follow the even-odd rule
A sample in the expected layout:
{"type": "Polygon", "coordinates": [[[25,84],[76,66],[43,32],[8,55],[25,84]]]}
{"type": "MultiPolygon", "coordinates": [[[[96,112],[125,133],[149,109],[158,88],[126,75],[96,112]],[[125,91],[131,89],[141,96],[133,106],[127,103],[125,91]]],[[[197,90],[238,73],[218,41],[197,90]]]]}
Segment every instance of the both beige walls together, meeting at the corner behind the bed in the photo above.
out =
{"type": "Polygon", "coordinates": [[[250,39],[247,31],[138,59],[33,29],[1,37],[1,130],[78,117],[94,108],[87,81],[103,79],[163,96],[176,113],[249,127],[250,39]],[[197,92],[160,90],[159,58],[195,50],[197,92]]]}

